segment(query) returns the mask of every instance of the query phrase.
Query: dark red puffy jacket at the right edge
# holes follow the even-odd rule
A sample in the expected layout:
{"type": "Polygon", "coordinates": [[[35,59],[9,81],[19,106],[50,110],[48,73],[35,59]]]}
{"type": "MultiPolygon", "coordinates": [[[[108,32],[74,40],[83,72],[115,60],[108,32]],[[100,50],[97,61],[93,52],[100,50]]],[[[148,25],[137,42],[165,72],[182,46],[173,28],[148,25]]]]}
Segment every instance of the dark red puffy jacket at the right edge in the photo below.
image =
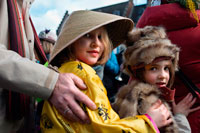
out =
{"type": "MultiPolygon", "coordinates": [[[[200,18],[200,10],[197,11],[200,18]]],[[[172,43],[181,48],[179,66],[182,71],[200,88],[200,24],[192,13],[181,8],[179,4],[164,4],[148,7],[136,27],[147,25],[164,26],[172,43]]],[[[175,79],[175,100],[180,101],[188,93],[188,88],[178,78],[175,79]]],[[[198,99],[195,106],[200,105],[198,99]]],[[[188,116],[192,133],[200,131],[200,110],[188,116]]]]}

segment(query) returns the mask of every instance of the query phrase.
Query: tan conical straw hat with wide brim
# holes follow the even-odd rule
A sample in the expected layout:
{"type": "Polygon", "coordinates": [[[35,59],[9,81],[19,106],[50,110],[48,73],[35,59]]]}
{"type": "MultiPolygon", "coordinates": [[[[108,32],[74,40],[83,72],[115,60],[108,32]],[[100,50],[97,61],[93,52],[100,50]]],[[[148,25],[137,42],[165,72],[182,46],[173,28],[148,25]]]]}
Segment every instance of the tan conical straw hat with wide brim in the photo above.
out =
{"type": "Polygon", "coordinates": [[[56,60],[57,55],[67,46],[83,35],[105,26],[108,36],[114,47],[121,44],[127,33],[133,29],[131,19],[96,11],[80,10],[73,12],[66,20],[56,45],[50,56],[50,63],[56,60]]]}

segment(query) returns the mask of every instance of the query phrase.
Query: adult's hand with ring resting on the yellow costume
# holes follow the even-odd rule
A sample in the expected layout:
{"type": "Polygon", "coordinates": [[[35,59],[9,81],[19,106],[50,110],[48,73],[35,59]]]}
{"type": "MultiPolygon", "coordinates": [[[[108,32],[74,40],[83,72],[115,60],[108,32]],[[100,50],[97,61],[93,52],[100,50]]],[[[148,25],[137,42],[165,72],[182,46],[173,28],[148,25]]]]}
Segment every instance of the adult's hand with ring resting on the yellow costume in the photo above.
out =
{"type": "Polygon", "coordinates": [[[96,105],[79,89],[86,89],[83,81],[72,73],[59,74],[54,91],[49,101],[68,120],[80,123],[90,123],[87,114],[82,110],[78,102],[95,110],[96,105]]]}

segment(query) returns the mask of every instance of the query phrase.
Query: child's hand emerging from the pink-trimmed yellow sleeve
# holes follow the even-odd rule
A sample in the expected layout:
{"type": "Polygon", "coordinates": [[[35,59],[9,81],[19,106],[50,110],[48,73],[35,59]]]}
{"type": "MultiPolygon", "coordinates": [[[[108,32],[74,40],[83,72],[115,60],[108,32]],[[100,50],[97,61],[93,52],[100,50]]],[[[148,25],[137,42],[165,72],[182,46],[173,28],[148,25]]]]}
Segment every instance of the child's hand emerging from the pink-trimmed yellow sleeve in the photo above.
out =
{"type": "Polygon", "coordinates": [[[166,126],[172,122],[169,110],[160,100],[147,110],[147,114],[151,116],[158,128],[166,126]]]}

